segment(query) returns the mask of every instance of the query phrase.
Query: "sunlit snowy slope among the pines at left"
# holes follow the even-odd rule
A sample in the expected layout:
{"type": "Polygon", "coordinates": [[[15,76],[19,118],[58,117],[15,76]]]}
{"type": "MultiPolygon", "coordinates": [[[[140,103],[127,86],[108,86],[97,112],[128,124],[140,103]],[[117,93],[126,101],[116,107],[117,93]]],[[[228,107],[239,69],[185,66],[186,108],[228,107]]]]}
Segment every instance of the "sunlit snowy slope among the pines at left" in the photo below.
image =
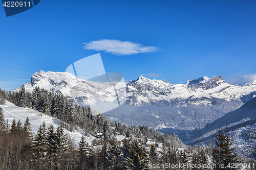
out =
{"type": "MultiPolygon", "coordinates": [[[[36,134],[38,131],[39,126],[45,121],[46,125],[49,126],[53,124],[54,129],[56,130],[58,126],[60,126],[58,119],[53,118],[51,116],[47,116],[42,114],[39,111],[18,107],[8,101],[6,101],[6,105],[0,105],[0,107],[4,110],[5,119],[8,119],[8,123],[11,126],[13,118],[15,118],[16,122],[20,119],[20,121],[24,124],[27,117],[30,119],[31,128],[33,133],[36,134]]],[[[74,132],[70,132],[65,129],[65,134],[68,134],[74,141],[76,145],[79,143],[83,132],[81,130],[76,130],[74,132]]],[[[93,138],[86,137],[86,141],[90,144],[92,143],[93,138]]]]}

